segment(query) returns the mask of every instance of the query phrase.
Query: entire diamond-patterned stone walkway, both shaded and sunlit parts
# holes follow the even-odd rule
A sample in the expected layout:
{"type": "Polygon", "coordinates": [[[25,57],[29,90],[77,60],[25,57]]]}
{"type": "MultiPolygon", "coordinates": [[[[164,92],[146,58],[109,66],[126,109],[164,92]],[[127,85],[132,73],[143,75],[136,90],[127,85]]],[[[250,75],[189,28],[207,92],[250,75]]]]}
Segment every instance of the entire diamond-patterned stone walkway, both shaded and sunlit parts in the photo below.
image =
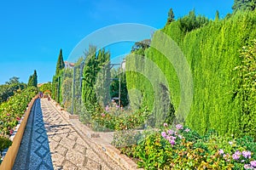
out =
{"type": "Polygon", "coordinates": [[[38,99],[27,122],[14,169],[123,168],[90,138],[81,136],[53,102],[38,99]]]}

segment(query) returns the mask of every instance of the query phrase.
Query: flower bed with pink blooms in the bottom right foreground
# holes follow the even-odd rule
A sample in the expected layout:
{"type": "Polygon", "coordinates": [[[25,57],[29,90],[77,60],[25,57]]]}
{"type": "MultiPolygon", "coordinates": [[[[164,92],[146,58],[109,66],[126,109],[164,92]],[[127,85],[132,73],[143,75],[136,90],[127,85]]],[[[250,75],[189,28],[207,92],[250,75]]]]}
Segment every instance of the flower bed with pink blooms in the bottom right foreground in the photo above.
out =
{"type": "MultiPolygon", "coordinates": [[[[115,144],[119,144],[119,137],[114,138],[115,144]]],[[[180,124],[169,128],[165,123],[161,131],[148,130],[137,143],[119,149],[145,169],[256,169],[253,138],[222,137],[214,131],[201,136],[180,124]]]]}

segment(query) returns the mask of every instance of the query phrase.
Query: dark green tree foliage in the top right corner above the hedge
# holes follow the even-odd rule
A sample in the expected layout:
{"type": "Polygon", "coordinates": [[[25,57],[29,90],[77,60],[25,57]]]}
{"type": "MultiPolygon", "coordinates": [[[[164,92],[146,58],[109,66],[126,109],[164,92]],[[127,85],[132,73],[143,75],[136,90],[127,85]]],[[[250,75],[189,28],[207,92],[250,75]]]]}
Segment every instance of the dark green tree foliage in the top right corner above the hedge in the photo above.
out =
{"type": "Polygon", "coordinates": [[[255,0],[235,0],[232,9],[236,12],[238,10],[251,10],[256,8],[255,0]]]}

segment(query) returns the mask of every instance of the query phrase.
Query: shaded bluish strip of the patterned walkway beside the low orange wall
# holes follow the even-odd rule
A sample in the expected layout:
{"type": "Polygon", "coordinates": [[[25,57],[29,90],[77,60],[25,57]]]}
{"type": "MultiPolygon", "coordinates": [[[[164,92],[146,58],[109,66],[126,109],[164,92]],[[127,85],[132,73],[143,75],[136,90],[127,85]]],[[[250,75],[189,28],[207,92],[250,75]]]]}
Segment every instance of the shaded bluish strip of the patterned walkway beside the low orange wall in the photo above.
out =
{"type": "Polygon", "coordinates": [[[32,106],[13,169],[53,169],[39,99],[32,106]]]}

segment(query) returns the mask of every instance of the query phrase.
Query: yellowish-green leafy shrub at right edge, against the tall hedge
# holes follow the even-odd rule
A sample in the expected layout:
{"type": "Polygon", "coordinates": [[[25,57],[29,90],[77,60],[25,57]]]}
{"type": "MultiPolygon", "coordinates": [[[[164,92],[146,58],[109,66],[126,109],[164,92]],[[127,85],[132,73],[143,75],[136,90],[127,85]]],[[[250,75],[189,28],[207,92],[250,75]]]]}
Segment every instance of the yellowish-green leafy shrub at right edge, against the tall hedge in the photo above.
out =
{"type": "Polygon", "coordinates": [[[240,50],[241,64],[234,69],[236,77],[233,78],[234,102],[240,106],[241,114],[238,124],[241,133],[256,138],[256,40],[250,41],[240,50]]]}

